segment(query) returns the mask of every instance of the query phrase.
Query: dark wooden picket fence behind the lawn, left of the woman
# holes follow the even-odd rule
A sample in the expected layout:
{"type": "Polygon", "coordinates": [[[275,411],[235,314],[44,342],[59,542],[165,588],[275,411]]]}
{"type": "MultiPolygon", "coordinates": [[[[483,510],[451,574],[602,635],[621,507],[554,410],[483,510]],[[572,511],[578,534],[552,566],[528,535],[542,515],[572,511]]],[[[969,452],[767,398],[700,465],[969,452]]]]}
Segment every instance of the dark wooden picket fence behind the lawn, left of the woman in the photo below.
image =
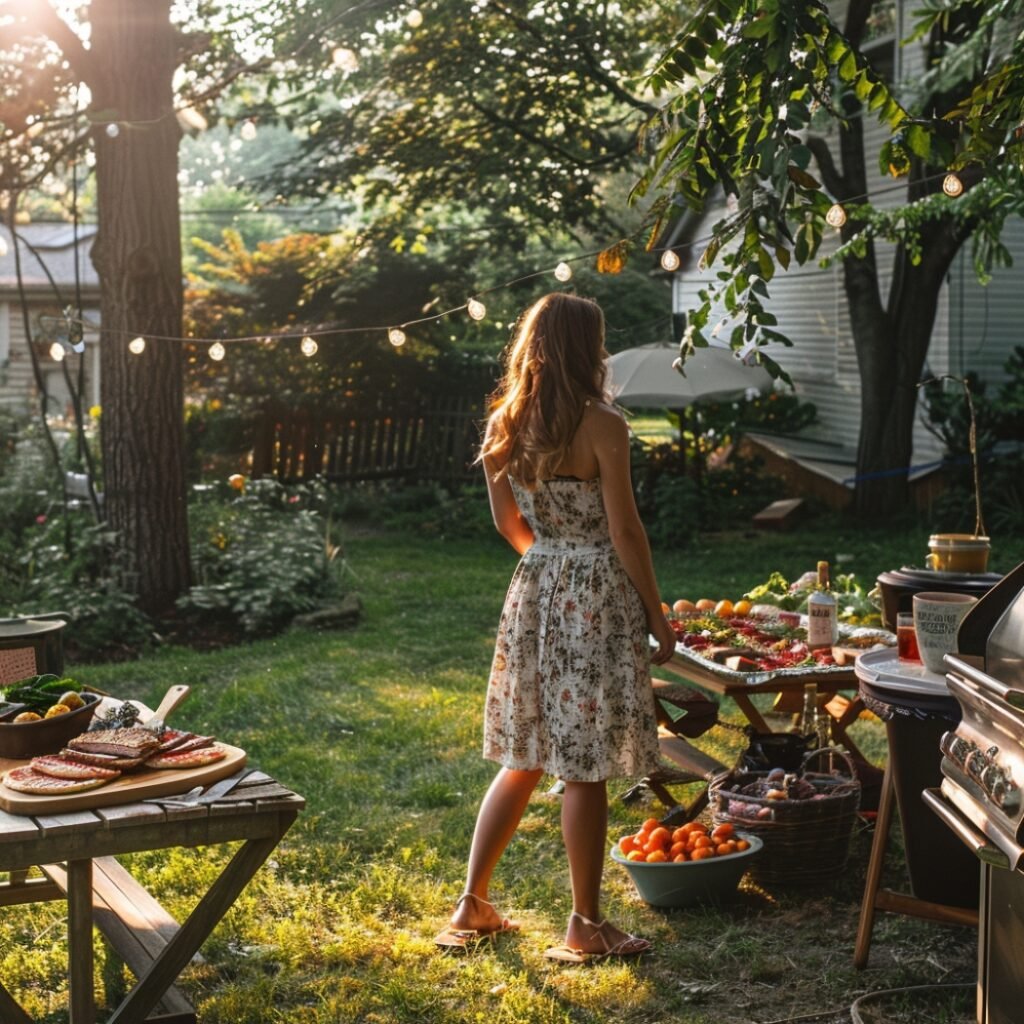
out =
{"type": "Polygon", "coordinates": [[[311,412],[268,408],[253,474],[284,482],[403,479],[454,485],[476,475],[483,399],[437,394],[419,402],[311,412]]]}

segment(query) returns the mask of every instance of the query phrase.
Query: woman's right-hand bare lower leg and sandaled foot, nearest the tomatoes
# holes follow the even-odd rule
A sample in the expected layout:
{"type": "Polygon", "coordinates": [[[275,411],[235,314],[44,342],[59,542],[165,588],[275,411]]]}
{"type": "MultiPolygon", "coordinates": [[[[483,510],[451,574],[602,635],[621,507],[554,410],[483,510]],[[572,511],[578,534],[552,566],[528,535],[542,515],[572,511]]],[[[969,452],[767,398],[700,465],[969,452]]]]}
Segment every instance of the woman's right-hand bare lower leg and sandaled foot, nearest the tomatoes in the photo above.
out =
{"type": "Polygon", "coordinates": [[[572,914],[565,944],[584,952],[607,952],[615,946],[622,952],[640,951],[650,945],[645,939],[633,939],[614,925],[601,921],[601,877],[608,852],[607,833],[605,782],[566,782],[562,797],[562,840],[572,881],[572,914]]]}

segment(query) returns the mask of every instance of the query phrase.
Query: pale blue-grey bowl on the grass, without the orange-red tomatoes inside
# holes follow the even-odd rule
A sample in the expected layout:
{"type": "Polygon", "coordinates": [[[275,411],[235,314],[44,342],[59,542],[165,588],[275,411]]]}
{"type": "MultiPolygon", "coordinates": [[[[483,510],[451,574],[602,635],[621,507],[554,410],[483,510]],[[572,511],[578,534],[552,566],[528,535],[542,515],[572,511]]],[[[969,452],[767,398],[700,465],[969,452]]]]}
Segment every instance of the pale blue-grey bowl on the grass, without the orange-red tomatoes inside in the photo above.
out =
{"type": "Polygon", "coordinates": [[[611,859],[626,868],[640,898],[651,906],[725,903],[735,895],[751,858],[764,846],[761,839],[746,833],[737,831],[736,838],[745,839],[750,847],[724,857],[648,864],[643,860],[628,860],[613,846],[611,859]]]}

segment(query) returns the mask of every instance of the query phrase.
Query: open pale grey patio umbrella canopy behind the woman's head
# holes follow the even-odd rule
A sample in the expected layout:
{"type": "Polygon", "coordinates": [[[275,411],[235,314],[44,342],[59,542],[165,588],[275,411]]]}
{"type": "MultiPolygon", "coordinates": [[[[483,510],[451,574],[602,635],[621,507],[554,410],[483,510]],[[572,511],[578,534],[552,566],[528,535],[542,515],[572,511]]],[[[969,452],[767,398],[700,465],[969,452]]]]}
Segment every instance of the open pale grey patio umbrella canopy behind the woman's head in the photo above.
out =
{"type": "Polygon", "coordinates": [[[611,393],[622,406],[634,409],[684,409],[701,400],[724,400],[745,391],[770,391],[772,378],[764,367],[749,367],[730,348],[698,348],[679,373],[672,364],[676,345],[662,342],[638,345],[608,359],[611,393]]]}

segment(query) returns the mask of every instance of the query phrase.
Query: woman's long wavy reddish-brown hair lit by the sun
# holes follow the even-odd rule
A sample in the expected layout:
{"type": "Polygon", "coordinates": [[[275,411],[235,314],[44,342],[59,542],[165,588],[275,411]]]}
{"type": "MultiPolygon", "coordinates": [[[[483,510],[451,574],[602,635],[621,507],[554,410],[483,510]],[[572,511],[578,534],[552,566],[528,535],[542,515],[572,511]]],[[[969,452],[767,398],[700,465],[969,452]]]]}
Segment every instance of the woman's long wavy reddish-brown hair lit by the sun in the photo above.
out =
{"type": "Polygon", "coordinates": [[[587,399],[607,400],[604,314],[591,299],[553,292],[519,318],[505,373],[490,397],[479,458],[489,456],[524,486],[555,474],[587,399]]]}

